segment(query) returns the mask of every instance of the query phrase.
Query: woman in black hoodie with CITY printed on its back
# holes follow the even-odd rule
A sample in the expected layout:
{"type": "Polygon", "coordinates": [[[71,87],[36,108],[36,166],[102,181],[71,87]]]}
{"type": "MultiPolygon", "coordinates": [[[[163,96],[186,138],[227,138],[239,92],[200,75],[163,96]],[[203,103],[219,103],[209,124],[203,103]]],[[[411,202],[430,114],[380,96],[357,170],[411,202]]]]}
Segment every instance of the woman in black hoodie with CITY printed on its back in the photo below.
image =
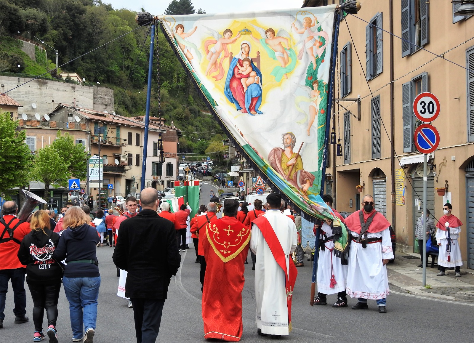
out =
{"type": "Polygon", "coordinates": [[[49,342],[56,343],[56,319],[63,268],[53,258],[59,235],[49,229],[49,216],[44,210],[36,211],[30,222],[31,233],[23,238],[18,259],[27,266],[27,284],[33,298],[33,342],[45,338],[43,315],[46,308],[49,342]]]}

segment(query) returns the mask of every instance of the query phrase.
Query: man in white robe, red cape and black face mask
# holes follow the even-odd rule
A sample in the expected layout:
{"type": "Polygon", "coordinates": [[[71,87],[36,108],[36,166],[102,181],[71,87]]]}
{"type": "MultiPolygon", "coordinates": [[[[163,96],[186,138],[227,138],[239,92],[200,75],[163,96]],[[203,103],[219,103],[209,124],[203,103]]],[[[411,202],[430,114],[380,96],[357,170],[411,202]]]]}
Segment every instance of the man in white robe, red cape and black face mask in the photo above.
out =
{"type": "Polygon", "coordinates": [[[368,308],[367,299],[377,300],[380,313],[387,313],[387,267],[393,258],[390,223],[374,209],[374,198],[366,195],[363,209],[346,218],[352,235],[347,273],[347,294],[358,298],[354,310],[368,308]]]}

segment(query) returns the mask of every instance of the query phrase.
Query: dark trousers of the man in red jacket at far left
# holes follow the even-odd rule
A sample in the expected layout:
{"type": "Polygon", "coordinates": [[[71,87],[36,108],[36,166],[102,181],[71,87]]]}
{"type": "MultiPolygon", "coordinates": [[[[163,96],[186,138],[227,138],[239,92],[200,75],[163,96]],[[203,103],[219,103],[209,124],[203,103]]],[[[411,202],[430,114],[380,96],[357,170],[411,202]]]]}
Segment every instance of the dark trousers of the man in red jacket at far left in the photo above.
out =
{"type": "Polygon", "coordinates": [[[5,299],[8,292],[8,281],[11,280],[13,288],[13,314],[15,316],[25,316],[27,314],[27,298],[25,292],[25,268],[1,269],[0,270],[0,319],[5,319],[5,299]]]}

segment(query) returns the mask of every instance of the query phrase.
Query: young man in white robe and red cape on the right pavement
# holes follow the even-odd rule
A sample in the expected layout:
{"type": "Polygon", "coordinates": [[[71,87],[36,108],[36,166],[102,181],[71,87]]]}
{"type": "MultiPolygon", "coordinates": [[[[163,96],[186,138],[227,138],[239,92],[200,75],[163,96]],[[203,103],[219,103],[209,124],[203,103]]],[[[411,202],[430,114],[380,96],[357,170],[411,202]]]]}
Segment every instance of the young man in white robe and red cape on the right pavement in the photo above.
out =
{"type": "Polygon", "coordinates": [[[452,206],[446,203],[443,206],[443,214],[436,224],[436,240],[438,241],[438,276],[445,275],[446,267],[456,269],[456,278],[461,277],[461,266],[463,260],[461,258],[461,249],[457,239],[461,232],[463,223],[453,214],[451,214],[452,206]]]}

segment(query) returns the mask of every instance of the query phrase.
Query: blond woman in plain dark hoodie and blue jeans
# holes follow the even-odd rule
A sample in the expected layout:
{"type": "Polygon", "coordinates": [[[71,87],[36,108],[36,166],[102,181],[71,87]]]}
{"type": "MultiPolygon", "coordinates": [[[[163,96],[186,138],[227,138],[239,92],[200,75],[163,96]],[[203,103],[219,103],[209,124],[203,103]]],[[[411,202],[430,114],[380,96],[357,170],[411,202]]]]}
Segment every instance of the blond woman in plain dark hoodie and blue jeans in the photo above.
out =
{"type": "Polygon", "coordinates": [[[84,338],[84,343],[92,343],[97,321],[100,274],[95,251],[100,237],[90,222],[91,217],[79,206],[69,208],[63,221],[67,229],[54,253],[57,261],[66,259],[63,286],[69,300],[73,342],[84,338]]]}

